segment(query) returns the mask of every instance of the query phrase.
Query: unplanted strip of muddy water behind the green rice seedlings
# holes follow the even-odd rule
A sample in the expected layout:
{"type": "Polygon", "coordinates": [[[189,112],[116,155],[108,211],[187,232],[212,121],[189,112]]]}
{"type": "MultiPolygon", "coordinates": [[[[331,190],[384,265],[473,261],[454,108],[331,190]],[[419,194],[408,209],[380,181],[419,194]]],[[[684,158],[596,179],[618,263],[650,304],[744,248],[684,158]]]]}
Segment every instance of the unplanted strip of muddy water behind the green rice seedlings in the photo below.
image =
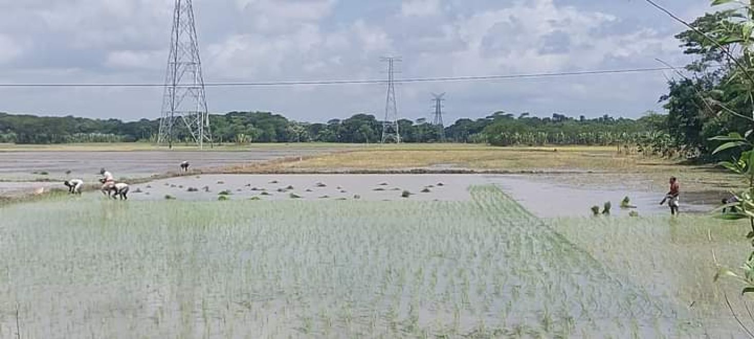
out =
{"type": "MultiPolygon", "coordinates": [[[[552,178],[556,178],[553,176],[552,178]]],[[[212,175],[165,179],[132,189],[134,200],[164,200],[166,195],[179,200],[218,200],[229,193],[229,200],[470,200],[473,185],[496,185],[526,209],[541,218],[590,215],[590,207],[612,204],[612,215],[627,216],[630,211],[642,215],[667,213],[661,206],[663,194],[632,191],[627,188],[603,189],[562,184],[532,176],[477,175],[212,175]],[[198,191],[189,191],[189,188],[198,191]],[[137,193],[141,191],[141,193],[137,193]],[[424,192],[422,192],[424,191],[424,192]],[[293,194],[293,195],[292,195],[293,194]],[[621,209],[621,200],[630,197],[635,209],[621,209]]],[[[716,197],[699,200],[700,194],[682,195],[682,212],[707,212],[716,197]],[[683,198],[693,196],[691,203],[683,198]]],[[[223,198],[225,199],[225,198],[223,198]]]]}

